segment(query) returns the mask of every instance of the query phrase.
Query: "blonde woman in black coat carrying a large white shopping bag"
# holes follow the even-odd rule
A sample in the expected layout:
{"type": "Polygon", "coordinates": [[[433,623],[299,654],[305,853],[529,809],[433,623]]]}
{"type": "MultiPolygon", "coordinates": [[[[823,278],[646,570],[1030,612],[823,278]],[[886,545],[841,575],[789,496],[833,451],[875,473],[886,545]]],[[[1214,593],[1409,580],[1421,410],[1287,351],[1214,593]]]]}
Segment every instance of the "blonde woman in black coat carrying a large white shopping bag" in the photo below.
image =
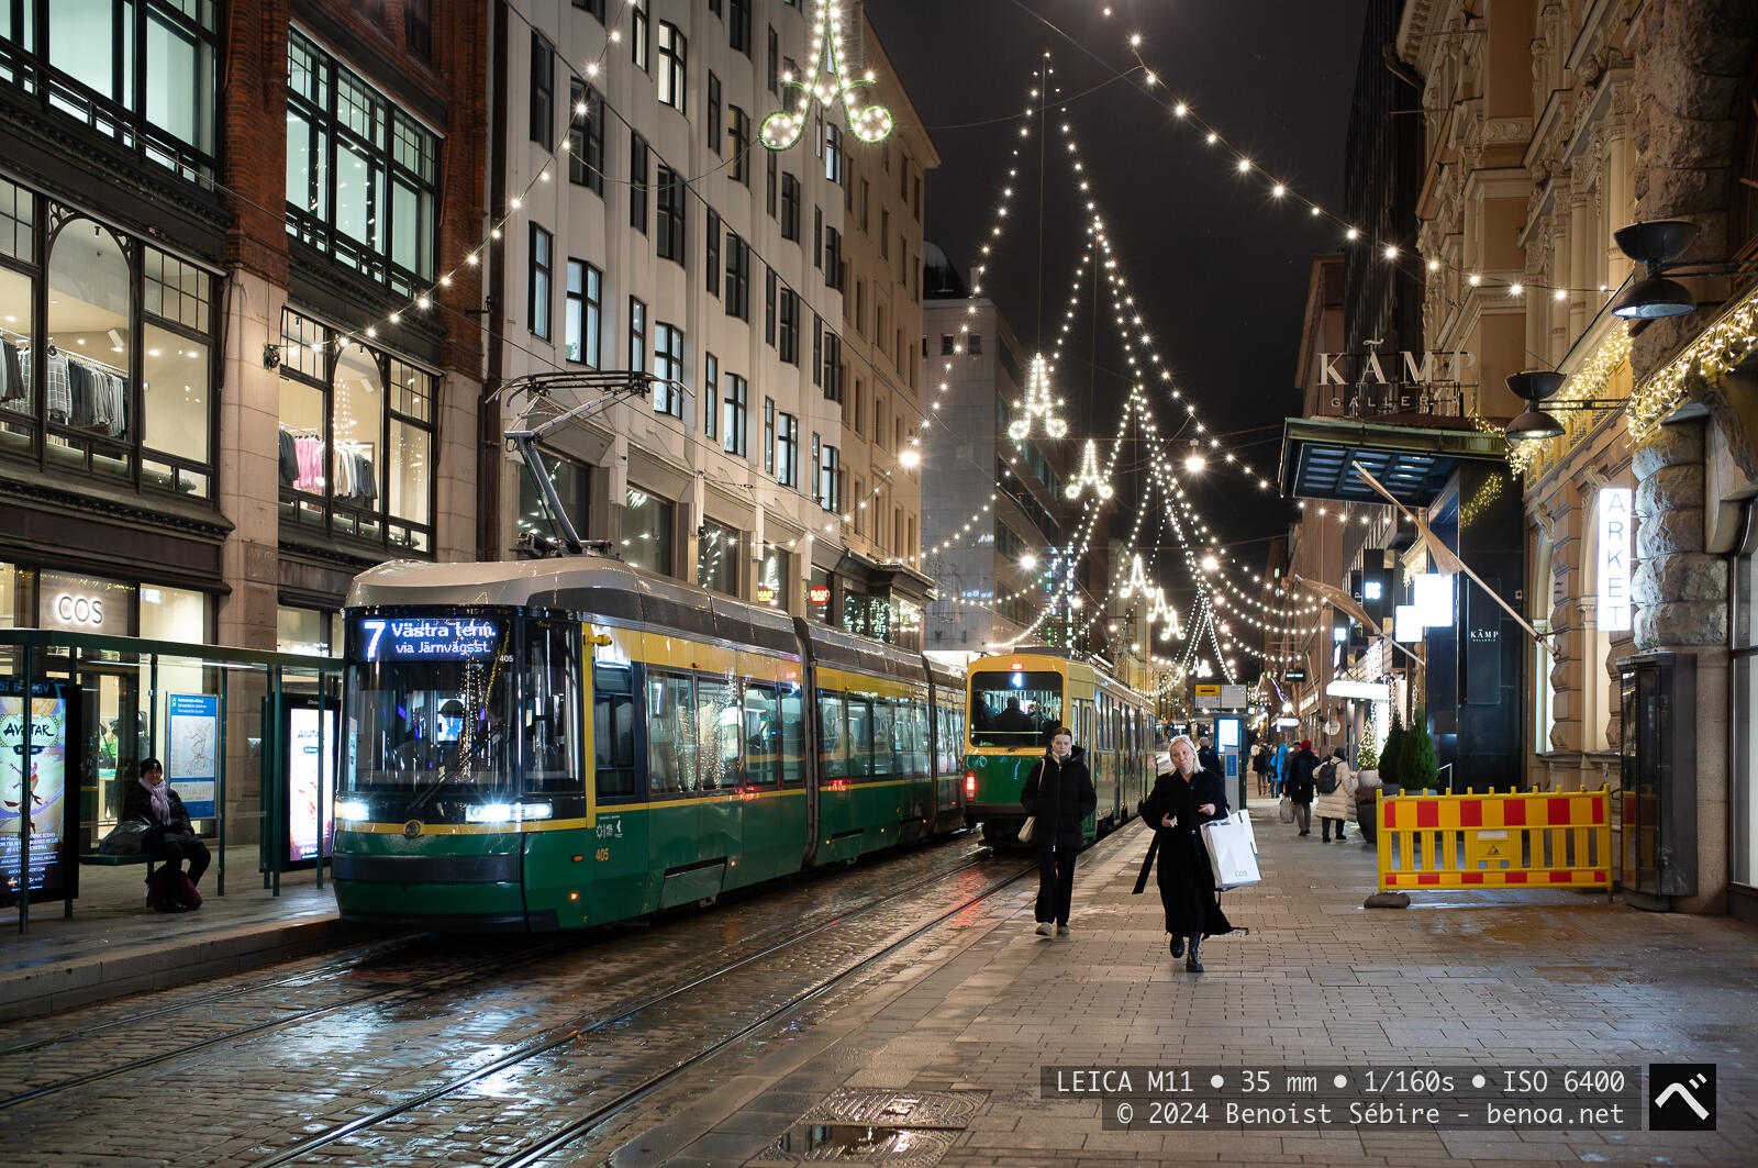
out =
{"type": "Polygon", "coordinates": [[[1188,938],[1185,969],[1202,973],[1197,945],[1202,938],[1232,932],[1232,923],[1220,911],[1215,871],[1199,830],[1210,820],[1227,818],[1227,793],[1222,776],[1197,767],[1197,748],[1188,737],[1173,739],[1169,753],[1173,769],[1153,783],[1141,802],[1141,818],[1159,829],[1160,904],[1166,908],[1166,931],[1173,934],[1173,957],[1183,955],[1188,938]]]}

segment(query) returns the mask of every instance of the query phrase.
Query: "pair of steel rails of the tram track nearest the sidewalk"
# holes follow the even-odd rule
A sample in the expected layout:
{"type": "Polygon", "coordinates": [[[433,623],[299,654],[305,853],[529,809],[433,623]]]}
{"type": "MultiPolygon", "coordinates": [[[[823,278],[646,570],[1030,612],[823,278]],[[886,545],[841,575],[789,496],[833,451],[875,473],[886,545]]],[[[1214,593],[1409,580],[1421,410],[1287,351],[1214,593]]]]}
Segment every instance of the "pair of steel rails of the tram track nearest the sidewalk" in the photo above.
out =
{"type": "MultiPolygon", "coordinates": [[[[744,957],[737,959],[735,962],[730,962],[726,966],[721,966],[721,967],[710,969],[707,973],[701,973],[698,976],[693,976],[687,982],[682,982],[679,985],[668,987],[668,989],[665,989],[661,992],[649,994],[649,996],[643,996],[643,997],[638,997],[638,999],[628,999],[628,1001],[622,1001],[622,1003],[615,1003],[615,1004],[612,1004],[607,1010],[596,1010],[592,1013],[582,1013],[582,1015],[578,1015],[575,1018],[570,1018],[566,1022],[552,1026],[543,1034],[540,1034],[538,1038],[533,1038],[533,1040],[527,1040],[526,1043],[520,1043],[517,1048],[510,1050],[508,1054],[501,1055],[499,1059],[494,1059],[492,1062],[487,1062],[483,1066],[478,1066],[478,1068],[471,1069],[468,1075],[459,1075],[459,1077],[448,1080],[448,1082],[445,1082],[445,1084],[438,1084],[434,1087],[424,1089],[418,1094],[410,1096],[408,1099],[401,1099],[401,1101],[397,1101],[394,1105],[389,1105],[389,1106],[383,1106],[383,1108],[380,1108],[380,1110],[376,1110],[373,1113],[360,1115],[360,1117],[352,1119],[348,1122],[343,1122],[343,1124],[339,1124],[336,1128],[331,1128],[329,1131],[318,1133],[318,1135],[315,1135],[315,1136],[311,1136],[308,1140],[302,1140],[302,1142],[294,1143],[294,1145],[290,1145],[287,1149],[281,1149],[280,1152],[274,1152],[272,1156],[251,1161],[248,1164],[248,1168],[280,1168],[281,1164],[295,1163],[301,1157],[309,1156],[311,1152],[318,1152],[318,1150],[322,1150],[322,1149],[325,1149],[325,1147],[329,1147],[332,1143],[338,1143],[341,1140],[348,1140],[348,1138],[353,1138],[353,1136],[371,1136],[378,1129],[389,1128],[389,1124],[392,1124],[394,1121],[408,1115],[410,1112],[415,1112],[417,1108],[422,1108],[422,1106],[427,1106],[427,1105],[432,1105],[432,1103],[438,1103],[438,1101],[445,1101],[450,1096],[457,1096],[459,1092],[462,1092],[462,1091],[469,1089],[471,1085],[480,1084],[480,1082],[483,1082],[483,1080],[487,1080],[487,1078],[490,1078],[494,1075],[501,1075],[501,1073],[505,1073],[505,1071],[508,1071],[512,1068],[517,1068],[517,1066],[520,1066],[524,1062],[538,1059],[538,1057],[541,1057],[545,1054],[550,1054],[554,1050],[561,1050],[561,1048],[568,1047],[570,1043],[575,1043],[575,1041],[578,1041],[582,1038],[589,1038],[592,1034],[598,1034],[598,1033],[605,1031],[607,1027],[612,1027],[612,1026],[617,1026],[617,1024],[624,1024],[629,1018],[633,1018],[636,1015],[642,1015],[645,1011],[650,1011],[650,1010],[654,1010],[657,1006],[663,1006],[666,1003],[673,1003],[673,1001],[677,1001],[677,999],[680,999],[680,997],[684,997],[684,996],[687,996],[691,992],[696,992],[700,989],[708,987],[710,983],[714,983],[717,980],[726,978],[728,975],[738,973],[738,971],[742,971],[742,969],[745,969],[745,967],[749,967],[749,966],[752,966],[756,962],[761,962],[763,959],[774,957],[774,955],[781,953],[782,950],[798,946],[798,945],[802,945],[805,941],[810,941],[812,938],[816,938],[819,934],[825,934],[826,931],[847,925],[851,920],[856,920],[856,918],[865,916],[868,913],[875,913],[875,911],[879,911],[883,908],[888,908],[888,906],[902,901],[902,899],[905,899],[905,897],[909,897],[909,895],[912,895],[912,894],[926,888],[928,885],[942,883],[946,880],[951,880],[951,878],[958,876],[960,872],[963,872],[967,869],[979,867],[983,864],[993,864],[997,858],[1000,858],[1002,862],[1006,862],[1004,857],[999,857],[995,851],[992,851],[992,850],[984,851],[983,855],[974,857],[967,864],[962,864],[962,865],[953,867],[953,869],[944,871],[944,872],[935,872],[933,876],[923,878],[923,880],[909,885],[907,888],[900,888],[900,890],[890,892],[884,897],[879,897],[879,899],[868,902],[868,904],[863,904],[860,908],[849,909],[846,913],[839,913],[839,915],[832,916],[830,920],[825,920],[821,923],[810,925],[807,929],[795,931],[793,934],[789,934],[786,938],[781,938],[777,941],[766,943],[761,948],[758,948],[758,950],[754,950],[751,953],[745,953],[744,957]]],[[[999,892],[1002,892],[1009,885],[1020,881],[1023,876],[1028,876],[1028,874],[1032,874],[1035,871],[1037,871],[1037,864],[1035,862],[1028,864],[1028,865],[1023,865],[1023,867],[1009,865],[1009,872],[1004,878],[999,878],[999,880],[992,881],[988,887],[984,887],[981,892],[976,892],[974,895],[962,897],[951,908],[937,911],[935,916],[932,920],[928,920],[926,923],[911,929],[909,932],[905,932],[904,936],[900,936],[900,938],[897,938],[897,939],[893,939],[890,943],[886,943],[879,950],[860,957],[858,960],[854,960],[853,964],[846,966],[844,969],[839,969],[839,971],[835,971],[835,973],[832,973],[832,975],[817,980],[814,985],[807,987],[805,990],[789,996],[784,1003],[781,1003],[781,1004],[777,1004],[777,1006],[774,1006],[770,1010],[765,1010],[761,1013],[761,1017],[752,1018],[752,1020],[738,1026],[733,1033],[723,1034],[719,1038],[714,1038],[710,1043],[707,1043],[700,1050],[694,1050],[687,1057],[682,1057],[682,1059],[677,1059],[677,1061],[670,1062],[670,1066],[663,1068],[661,1071],[657,1071],[654,1075],[649,1075],[640,1084],[636,1084],[636,1085],[633,1085],[633,1087],[619,1092],[614,1099],[607,1099],[605,1103],[596,1105],[585,1115],[570,1121],[559,1131],[554,1131],[554,1133],[540,1138],[538,1142],[534,1142],[534,1143],[531,1143],[531,1145],[527,1145],[527,1147],[524,1147],[524,1149],[520,1149],[520,1150],[517,1150],[517,1152],[513,1152],[513,1154],[510,1154],[510,1156],[506,1156],[503,1159],[498,1159],[498,1161],[485,1159],[483,1163],[485,1164],[492,1163],[492,1164],[496,1164],[496,1168],[522,1168],[526,1164],[536,1164],[536,1163],[540,1163],[541,1159],[548,1157],[556,1150],[566,1147],[568,1143],[573,1143],[575,1140],[578,1140],[587,1131],[601,1126],[603,1122],[614,1119],[615,1115],[626,1112],[628,1108],[635,1106],[642,1099],[649,1098],[650,1094],[654,1094],[656,1091],[659,1091],[666,1084],[673,1082],[684,1071],[687,1071],[687,1069],[701,1064],[703,1061],[714,1057],[721,1050],[726,1050],[728,1047],[731,1047],[731,1045],[735,1045],[735,1043],[738,1043],[738,1041],[752,1036],[754,1033],[761,1031],[763,1027],[772,1026],[772,1024],[786,1018],[788,1015],[791,1015],[791,1013],[795,1013],[795,1011],[809,1006],[810,1003],[814,1003],[819,997],[823,997],[826,992],[830,992],[835,987],[846,983],[849,978],[858,976],[860,973],[870,969],[872,966],[875,966],[877,962],[884,960],[886,957],[890,957],[897,950],[900,950],[905,945],[919,939],[923,934],[930,932],[932,929],[937,929],[946,920],[951,920],[951,918],[958,916],[960,913],[969,911],[972,906],[981,904],[983,901],[997,895],[999,892]]]]}

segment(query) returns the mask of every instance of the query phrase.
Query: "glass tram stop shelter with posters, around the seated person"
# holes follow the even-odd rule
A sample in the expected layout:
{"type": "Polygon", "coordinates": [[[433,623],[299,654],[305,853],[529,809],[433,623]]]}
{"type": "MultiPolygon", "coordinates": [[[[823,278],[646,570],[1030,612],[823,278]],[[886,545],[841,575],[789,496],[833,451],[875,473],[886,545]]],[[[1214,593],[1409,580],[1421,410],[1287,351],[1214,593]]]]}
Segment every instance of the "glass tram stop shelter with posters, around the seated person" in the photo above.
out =
{"type": "Polygon", "coordinates": [[[338,658],[0,630],[0,909],[25,932],[33,906],[74,915],[81,869],[144,874],[151,857],[98,851],[144,758],[163,762],[214,853],[213,894],[227,892],[229,853],[255,857],[274,895],[297,869],[322,887],[339,714],[338,658]]]}

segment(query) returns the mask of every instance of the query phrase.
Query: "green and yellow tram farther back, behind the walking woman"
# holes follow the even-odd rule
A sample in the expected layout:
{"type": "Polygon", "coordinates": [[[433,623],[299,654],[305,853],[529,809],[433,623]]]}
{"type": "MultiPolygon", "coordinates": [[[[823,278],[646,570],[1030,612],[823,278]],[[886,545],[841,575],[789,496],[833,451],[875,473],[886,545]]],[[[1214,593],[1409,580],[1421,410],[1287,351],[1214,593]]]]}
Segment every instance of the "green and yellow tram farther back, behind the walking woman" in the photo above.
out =
{"type": "Polygon", "coordinates": [[[970,661],[965,753],[965,816],[983,839],[1018,839],[1020,788],[1050,746],[1055,726],[1074,730],[1099,790],[1088,839],[1122,825],[1153,786],[1153,705],[1092,661],[1046,651],[970,661]]]}

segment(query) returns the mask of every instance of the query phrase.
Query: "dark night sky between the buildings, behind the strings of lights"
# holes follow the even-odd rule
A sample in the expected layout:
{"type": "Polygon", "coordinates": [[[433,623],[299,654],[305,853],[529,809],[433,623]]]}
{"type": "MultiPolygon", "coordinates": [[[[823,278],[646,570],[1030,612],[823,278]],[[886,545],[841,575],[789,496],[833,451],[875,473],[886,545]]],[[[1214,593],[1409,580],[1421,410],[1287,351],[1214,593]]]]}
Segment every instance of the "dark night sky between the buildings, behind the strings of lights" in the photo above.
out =
{"type": "MultiPolygon", "coordinates": [[[[1297,412],[1294,364],[1311,259],[1336,250],[1340,239],[1334,225],[1313,220],[1304,206],[1273,202],[1269,185],[1280,179],[1341,209],[1343,135],[1366,0],[1120,0],[1111,18],[1101,16],[1102,7],[1102,0],[867,0],[942,158],[928,176],[928,239],[969,276],[976,246],[995,222],[1009,151],[1021,148],[1025,181],[1016,185],[984,290],[1000,301],[1021,347],[1035,348],[1037,135],[1028,144],[1020,137],[1032,70],[1048,47],[1062,93],[1081,93],[1130,69],[1127,37],[1143,33],[1141,55],[1162,83],[1157,91],[1188,102],[1262,171],[1241,178],[1232,155],[1206,146],[1202,134],[1176,123],[1130,83],[1071,100],[1067,120],[1160,357],[1211,433],[1276,427],[1239,434],[1239,443],[1255,445],[1236,447],[1275,480],[1280,422],[1297,412]],[[956,128],[997,118],[1006,121],[956,128]]],[[[1085,230],[1085,213],[1069,202],[1078,192],[1062,135],[1053,130],[1050,137],[1044,348],[1067,308],[1085,230]]],[[[1116,371],[1125,366],[1106,313],[1101,371],[1088,373],[1086,287],[1088,308],[1058,391],[1076,438],[1097,431],[1104,440],[1115,434],[1116,371]]],[[[1164,391],[1157,413],[1166,433],[1174,413],[1164,391]]],[[[1224,542],[1285,529],[1289,508],[1266,507],[1268,496],[1241,477],[1211,470],[1204,478],[1199,507],[1224,542]]],[[[1255,566],[1264,544],[1232,552],[1255,566]]],[[[1181,572],[1160,575],[1171,588],[1185,582],[1181,572]]]]}

